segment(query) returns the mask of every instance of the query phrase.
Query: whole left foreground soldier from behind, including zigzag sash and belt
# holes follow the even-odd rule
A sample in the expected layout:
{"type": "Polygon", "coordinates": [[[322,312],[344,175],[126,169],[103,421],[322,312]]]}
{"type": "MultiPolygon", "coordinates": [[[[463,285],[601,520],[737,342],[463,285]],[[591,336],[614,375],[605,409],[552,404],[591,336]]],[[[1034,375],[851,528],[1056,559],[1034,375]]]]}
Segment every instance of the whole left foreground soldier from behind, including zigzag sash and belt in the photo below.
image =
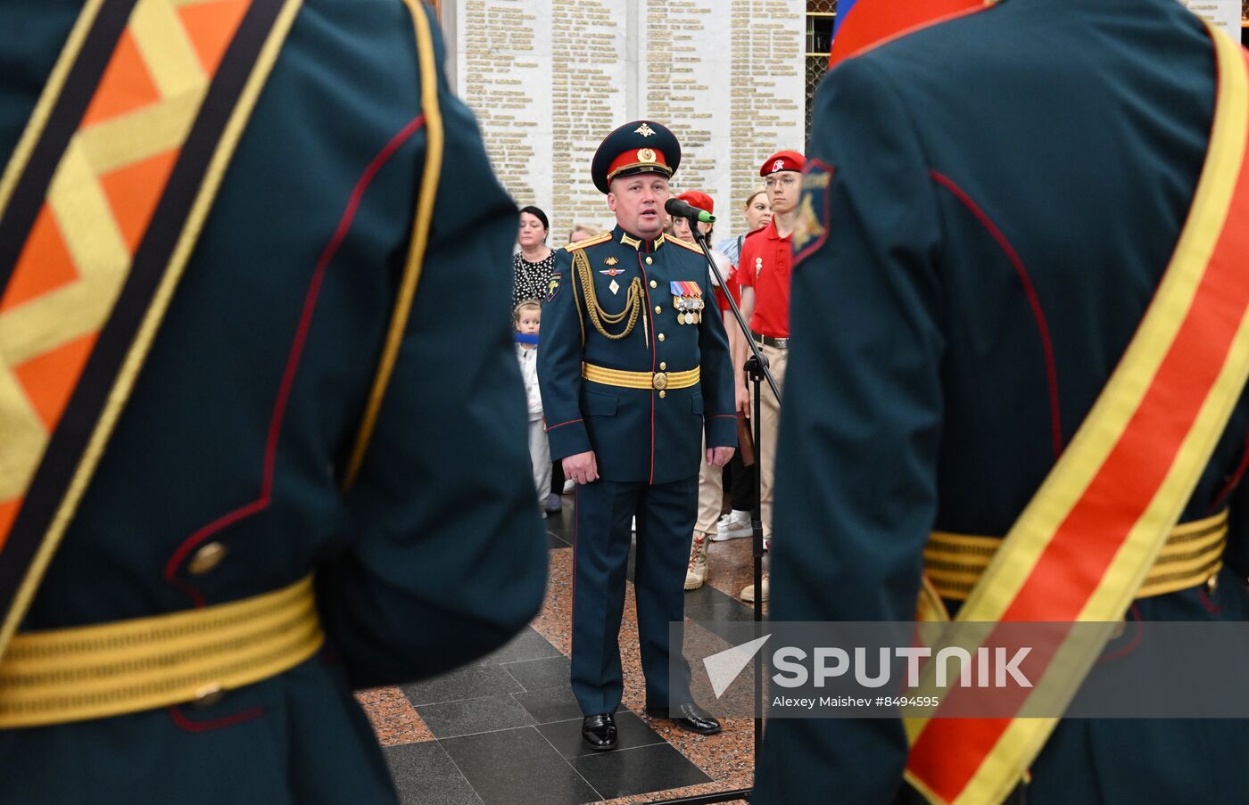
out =
{"type": "Polygon", "coordinates": [[[0,801],[395,803],[352,690],[542,602],[516,206],[423,2],[75,7],[0,6],[0,801]]]}

